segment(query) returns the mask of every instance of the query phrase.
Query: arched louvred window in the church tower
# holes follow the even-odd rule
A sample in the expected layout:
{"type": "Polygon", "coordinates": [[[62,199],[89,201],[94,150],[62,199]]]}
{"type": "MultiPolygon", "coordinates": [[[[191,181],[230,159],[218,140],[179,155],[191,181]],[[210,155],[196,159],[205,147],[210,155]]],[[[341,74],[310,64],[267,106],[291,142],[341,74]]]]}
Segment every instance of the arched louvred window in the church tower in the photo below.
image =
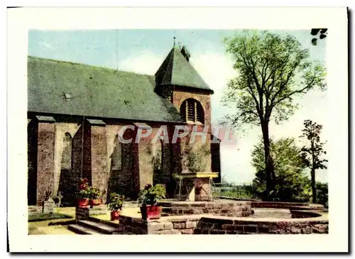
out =
{"type": "Polygon", "coordinates": [[[182,119],[192,123],[204,124],[204,111],[199,101],[195,99],[186,99],[180,106],[182,119]]]}

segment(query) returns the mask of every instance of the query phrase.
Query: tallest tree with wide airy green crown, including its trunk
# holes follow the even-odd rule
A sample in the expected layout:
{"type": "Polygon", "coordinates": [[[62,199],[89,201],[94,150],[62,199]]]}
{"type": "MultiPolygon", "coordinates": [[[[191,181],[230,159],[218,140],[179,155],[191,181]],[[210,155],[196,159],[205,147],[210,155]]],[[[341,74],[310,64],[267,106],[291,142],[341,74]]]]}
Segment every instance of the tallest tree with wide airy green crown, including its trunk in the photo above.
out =
{"type": "Polygon", "coordinates": [[[224,105],[232,105],[234,114],[226,116],[234,126],[244,123],[261,126],[267,192],[275,185],[273,160],[270,155],[269,123],[288,119],[297,109],[295,97],[310,89],[325,88],[325,70],[309,60],[292,35],[281,36],[264,31],[244,31],[226,38],[226,52],[234,57],[239,75],[227,85],[224,105]]]}

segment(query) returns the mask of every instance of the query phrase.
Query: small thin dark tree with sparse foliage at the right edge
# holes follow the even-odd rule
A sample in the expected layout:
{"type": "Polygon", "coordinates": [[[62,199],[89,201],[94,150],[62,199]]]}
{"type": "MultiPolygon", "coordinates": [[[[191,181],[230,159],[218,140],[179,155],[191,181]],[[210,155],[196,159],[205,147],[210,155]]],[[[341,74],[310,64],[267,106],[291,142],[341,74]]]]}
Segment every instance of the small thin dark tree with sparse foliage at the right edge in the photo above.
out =
{"type": "Polygon", "coordinates": [[[302,148],[302,158],[307,167],[311,170],[312,202],[316,203],[317,188],[315,183],[315,170],[327,169],[324,162],[328,162],[326,159],[321,159],[322,155],[327,154],[327,152],[323,150],[324,143],[320,142],[320,132],[323,126],[311,120],[305,120],[303,125],[305,128],[302,129],[303,133],[300,137],[307,138],[309,144],[302,148]]]}

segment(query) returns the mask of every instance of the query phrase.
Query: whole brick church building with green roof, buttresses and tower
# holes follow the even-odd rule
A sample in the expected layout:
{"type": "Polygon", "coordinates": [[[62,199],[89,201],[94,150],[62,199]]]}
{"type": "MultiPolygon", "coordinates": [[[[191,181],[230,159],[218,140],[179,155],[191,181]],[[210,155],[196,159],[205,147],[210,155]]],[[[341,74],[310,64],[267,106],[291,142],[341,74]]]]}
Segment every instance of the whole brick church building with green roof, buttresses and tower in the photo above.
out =
{"type": "MultiPolygon", "coordinates": [[[[219,144],[211,143],[211,94],[189,62],[185,47],[173,46],[155,75],[28,57],[28,205],[40,205],[48,194],[62,194],[75,204],[81,178],[110,192],[136,199],[148,184],[165,184],[173,197],[174,174],[189,171],[192,147],[158,140],[121,143],[139,128],[153,134],[160,126],[171,140],[177,125],[209,126],[200,172],[220,172],[219,144]],[[133,126],[133,127],[132,127],[133,126]]],[[[188,139],[189,136],[186,137],[188,139]]],[[[220,176],[219,176],[220,179],[220,176]]]]}

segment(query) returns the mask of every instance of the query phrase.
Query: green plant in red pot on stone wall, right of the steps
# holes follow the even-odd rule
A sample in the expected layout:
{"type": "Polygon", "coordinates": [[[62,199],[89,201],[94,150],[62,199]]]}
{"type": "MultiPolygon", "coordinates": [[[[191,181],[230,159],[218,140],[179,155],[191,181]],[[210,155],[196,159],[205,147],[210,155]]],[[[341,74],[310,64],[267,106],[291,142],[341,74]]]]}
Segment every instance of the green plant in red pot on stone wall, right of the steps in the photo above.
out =
{"type": "Polygon", "coordinates": [[[165,198],[165,188],[162,184],[146,184],[138,194],[138,202],[141,203],[142,219],[159,219],[161,214],[161,206],[157,206],[158,199],[165,198]]]}

